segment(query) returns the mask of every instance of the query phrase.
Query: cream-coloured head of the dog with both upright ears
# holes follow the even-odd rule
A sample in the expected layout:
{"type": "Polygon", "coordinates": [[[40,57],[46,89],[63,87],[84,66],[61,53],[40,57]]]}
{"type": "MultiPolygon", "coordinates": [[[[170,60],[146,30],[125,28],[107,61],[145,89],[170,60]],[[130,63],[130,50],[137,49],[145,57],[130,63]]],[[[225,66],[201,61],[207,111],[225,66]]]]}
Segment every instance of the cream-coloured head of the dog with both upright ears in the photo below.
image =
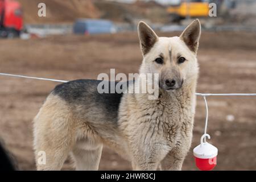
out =
{"type": "Polygon", "coordinates": [[[143,54],[140,73],[159,73],[160,88],[180,89],[192,78],[197,78],[196,53],[201,34],[198,19],[179,37],[158,37],[144,22],[139,22],[138,34],[143,54]]]}

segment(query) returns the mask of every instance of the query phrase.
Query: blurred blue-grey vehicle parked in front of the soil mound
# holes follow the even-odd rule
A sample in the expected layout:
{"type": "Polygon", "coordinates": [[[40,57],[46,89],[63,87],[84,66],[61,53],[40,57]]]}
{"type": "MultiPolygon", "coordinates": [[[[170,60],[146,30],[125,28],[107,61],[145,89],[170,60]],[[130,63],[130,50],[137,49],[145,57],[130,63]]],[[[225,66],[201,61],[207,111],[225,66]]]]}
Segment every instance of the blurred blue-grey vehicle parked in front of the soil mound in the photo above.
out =
{"type": "Polygon", "coordinates": [[[73,25],[74,34],[114,34],[113,22],[104,19],[77,19],[73,25]]]}

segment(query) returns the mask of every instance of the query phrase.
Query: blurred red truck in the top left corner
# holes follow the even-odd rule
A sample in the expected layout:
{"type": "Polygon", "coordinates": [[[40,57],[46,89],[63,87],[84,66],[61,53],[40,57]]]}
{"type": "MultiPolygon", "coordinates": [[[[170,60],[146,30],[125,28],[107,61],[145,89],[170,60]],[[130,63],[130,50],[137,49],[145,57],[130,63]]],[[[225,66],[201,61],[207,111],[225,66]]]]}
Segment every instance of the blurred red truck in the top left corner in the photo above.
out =
{"type": "Polygon", "coordinates": [[[23,27],[22,8],[14,0],[0,0],[0,36],[18,37],[23,27]]]}

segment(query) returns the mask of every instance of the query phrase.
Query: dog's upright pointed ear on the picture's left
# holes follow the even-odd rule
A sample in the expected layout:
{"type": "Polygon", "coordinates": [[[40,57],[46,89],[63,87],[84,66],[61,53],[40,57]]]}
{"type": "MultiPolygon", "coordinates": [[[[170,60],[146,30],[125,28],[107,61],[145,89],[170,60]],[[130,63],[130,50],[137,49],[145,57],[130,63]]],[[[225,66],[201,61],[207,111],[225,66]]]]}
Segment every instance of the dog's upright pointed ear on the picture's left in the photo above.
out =
{"type": "Polygon", "coordinates": [[[138,34],[141,43],[141,51],[143,55],[145,55],[154,46],[158,40],[158,36],[145,22],[139,22],[138,34]]]}

